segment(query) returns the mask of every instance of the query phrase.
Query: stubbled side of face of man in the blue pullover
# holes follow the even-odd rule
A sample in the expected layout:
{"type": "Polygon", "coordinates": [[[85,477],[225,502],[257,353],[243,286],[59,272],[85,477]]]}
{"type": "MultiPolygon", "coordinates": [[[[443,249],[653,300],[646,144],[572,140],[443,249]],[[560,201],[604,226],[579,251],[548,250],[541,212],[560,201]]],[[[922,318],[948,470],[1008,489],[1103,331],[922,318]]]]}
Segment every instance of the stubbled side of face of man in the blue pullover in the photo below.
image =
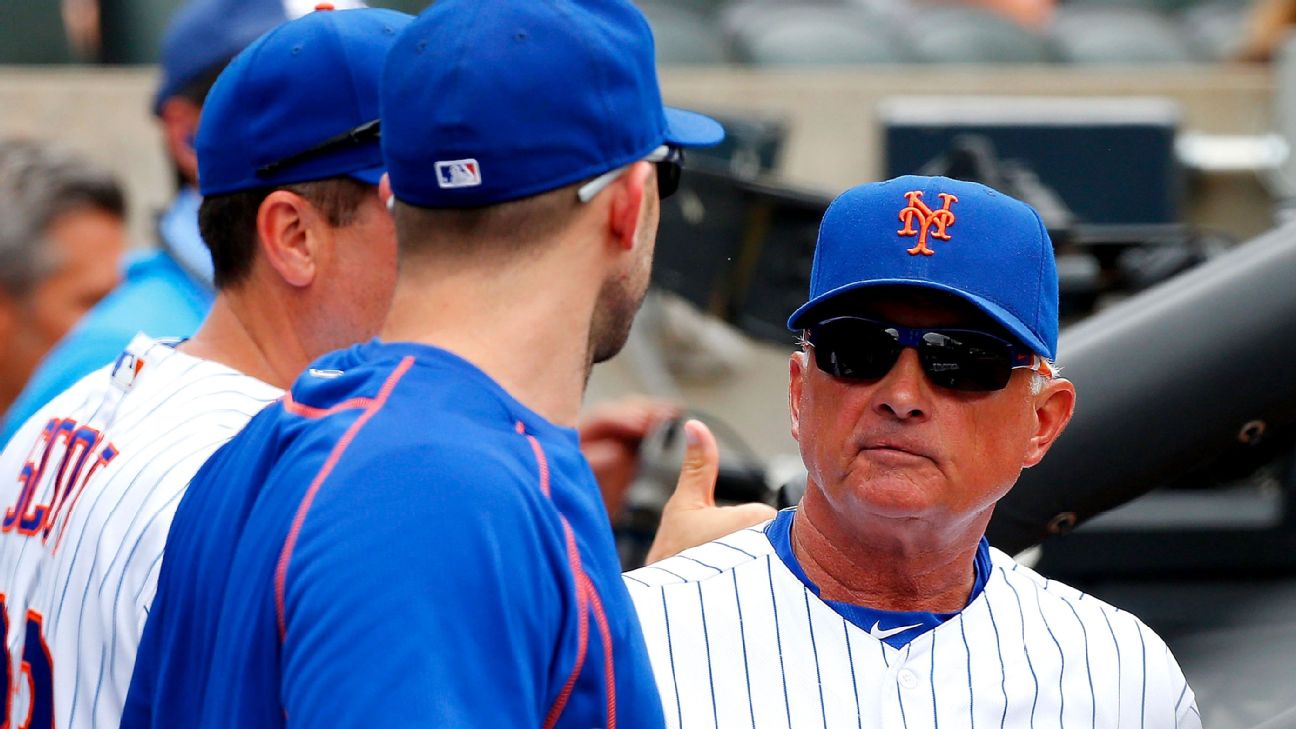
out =
{"type": "MultiPolygon", "coordinates": [[[[653,175],[656,174],[654,170],[653,175]]],[[[643,305],[648,280],[652,278],[652,254],[660,217],[661,200],[657,198],[657,182],[653,176],[644,187],[634,250],[630,252],[626,266],[603,281],[599,291],[590,326],[590,353],[595,364],[616,357],[630,337],[630,326],[643,305]]]]}

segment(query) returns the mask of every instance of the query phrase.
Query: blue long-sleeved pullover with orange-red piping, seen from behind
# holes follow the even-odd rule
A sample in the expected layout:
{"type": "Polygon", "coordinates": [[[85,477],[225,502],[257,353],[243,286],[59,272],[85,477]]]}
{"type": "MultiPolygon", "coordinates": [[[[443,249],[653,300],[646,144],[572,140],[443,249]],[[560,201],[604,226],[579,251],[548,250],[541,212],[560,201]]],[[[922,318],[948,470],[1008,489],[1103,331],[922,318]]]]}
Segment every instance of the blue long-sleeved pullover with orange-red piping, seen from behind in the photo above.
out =
{"type": "Polygon", "coordinates": [[[194,477],[122,725],[662,721],[575,431],[454,354],[375,341],[194,477]]]}

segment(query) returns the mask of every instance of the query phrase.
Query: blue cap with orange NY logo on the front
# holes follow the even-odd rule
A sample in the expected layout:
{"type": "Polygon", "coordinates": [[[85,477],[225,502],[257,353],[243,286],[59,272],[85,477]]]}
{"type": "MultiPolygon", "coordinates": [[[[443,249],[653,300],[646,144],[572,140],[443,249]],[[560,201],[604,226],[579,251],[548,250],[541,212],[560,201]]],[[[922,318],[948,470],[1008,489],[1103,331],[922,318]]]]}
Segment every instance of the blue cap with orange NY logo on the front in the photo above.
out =
{"type": "Polygon", "coordinates": [[[1058,269],[1033,208],[982,184],[903,176],[862,184],[828,205],[810,300],[788,328],[815,323],[839,296],[916,285],[969,301],[1021,344],[1058,355],[1058,269]]]}

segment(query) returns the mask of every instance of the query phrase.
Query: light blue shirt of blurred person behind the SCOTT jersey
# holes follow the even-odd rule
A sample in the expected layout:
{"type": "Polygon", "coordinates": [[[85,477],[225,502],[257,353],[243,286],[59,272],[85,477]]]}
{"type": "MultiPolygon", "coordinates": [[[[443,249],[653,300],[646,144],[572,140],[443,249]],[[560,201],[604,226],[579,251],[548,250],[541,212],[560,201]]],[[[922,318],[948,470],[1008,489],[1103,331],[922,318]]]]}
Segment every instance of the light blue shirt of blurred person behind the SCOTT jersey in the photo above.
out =
{"type": "Polygon", "coordinates": [[[165,250],[145,253],[31,374],[4,412],[0,448],[27,418],[86,375],[113,362],[139,332],[184,339],[211,309],[211,257],[198,235],[201,197],[181,191],[159,222],[165,250]]]}

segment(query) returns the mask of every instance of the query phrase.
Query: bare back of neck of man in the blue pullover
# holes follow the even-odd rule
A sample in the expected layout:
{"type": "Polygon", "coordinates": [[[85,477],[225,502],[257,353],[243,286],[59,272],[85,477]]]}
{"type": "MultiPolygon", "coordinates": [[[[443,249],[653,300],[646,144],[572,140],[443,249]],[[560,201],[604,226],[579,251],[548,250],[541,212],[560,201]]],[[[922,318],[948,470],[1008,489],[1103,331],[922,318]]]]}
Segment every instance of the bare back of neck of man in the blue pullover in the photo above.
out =
{"type": "Polygon", "coordinates": [[[559,425],[574,425],[588,372],[588,276],[556,257],[512,267],[402,263],[382,329],[472,362],[518,402],[559,425]]]}

